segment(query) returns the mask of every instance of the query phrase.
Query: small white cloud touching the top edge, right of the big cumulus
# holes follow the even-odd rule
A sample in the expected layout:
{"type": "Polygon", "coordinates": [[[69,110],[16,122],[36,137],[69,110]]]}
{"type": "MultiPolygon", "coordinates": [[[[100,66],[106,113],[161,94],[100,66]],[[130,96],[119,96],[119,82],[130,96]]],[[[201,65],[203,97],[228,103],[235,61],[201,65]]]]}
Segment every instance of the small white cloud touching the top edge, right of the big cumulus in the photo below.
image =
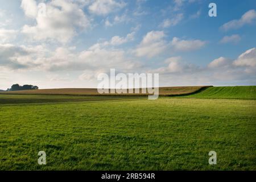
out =
{"type": "Polygon", "coordinates": [[[107,15],[126,6],[126,3],[114,0],[96,0],[89,6],[90,12],[97,15],[107,15]]]}

